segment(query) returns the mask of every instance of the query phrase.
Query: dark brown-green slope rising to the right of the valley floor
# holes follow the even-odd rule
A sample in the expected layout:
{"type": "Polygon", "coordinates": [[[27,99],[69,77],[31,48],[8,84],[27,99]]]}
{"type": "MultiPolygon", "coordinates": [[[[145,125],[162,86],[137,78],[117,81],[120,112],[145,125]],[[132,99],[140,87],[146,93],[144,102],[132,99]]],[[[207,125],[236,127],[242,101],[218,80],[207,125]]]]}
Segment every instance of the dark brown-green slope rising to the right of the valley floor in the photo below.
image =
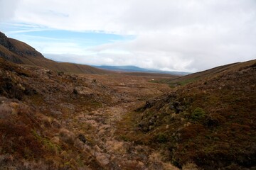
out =
{"type": "Polygon", "coordinates": [[[147,101],[117,134],[159,149],[184,169],[255,169],[256,60],[207,72],[147,101]]]}

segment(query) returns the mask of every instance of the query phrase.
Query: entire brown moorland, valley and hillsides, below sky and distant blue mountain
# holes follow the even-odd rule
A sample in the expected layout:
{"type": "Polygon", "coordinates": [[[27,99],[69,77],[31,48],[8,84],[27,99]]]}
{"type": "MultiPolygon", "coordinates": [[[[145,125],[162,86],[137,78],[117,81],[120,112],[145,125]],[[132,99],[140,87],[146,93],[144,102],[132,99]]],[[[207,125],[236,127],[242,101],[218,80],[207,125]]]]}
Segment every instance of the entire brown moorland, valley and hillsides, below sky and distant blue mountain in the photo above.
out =
{"type": "Polygon", "coordinates": [[[0,169],[256,168],[256,60],[117,73],[0,40],[0,169]]]}

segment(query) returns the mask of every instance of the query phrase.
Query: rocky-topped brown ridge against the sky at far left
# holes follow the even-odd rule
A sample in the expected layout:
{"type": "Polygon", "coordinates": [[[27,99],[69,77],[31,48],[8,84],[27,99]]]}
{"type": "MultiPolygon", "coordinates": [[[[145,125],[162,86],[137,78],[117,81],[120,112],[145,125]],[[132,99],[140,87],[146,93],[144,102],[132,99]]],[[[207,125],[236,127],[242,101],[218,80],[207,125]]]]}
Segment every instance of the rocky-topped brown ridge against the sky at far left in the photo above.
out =
{"type": "Polygon", "coordinates": [[[106,70],[97,69],[82,64],[59,63],[48,60],[33,47],[24,42],[7,38],[0,32],[0,57],[16,64],[28,64],[36,67],[45,67],[59,72],[104,74],[106,70]]]}

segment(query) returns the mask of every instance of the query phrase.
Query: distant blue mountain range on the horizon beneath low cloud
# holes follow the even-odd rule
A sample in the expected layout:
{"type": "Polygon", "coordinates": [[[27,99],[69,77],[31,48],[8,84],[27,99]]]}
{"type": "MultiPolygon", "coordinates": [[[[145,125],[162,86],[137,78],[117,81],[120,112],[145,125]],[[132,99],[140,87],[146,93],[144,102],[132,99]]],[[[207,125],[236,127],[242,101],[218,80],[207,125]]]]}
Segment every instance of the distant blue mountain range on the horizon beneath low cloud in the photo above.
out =
{"type": "Polygon", "coordinates": [[[107,69],[112,70],[116,72],[147,72],[147,73],[161,73],[161,74],[174,74],[174,75],[187,75],[191,74],[189,72],[169,72],[169,71],[161,71],[159,69],[144,69],[141,67],[136,67],[132,65],[127,66],[108,66],[108,65],[102,65],[102,66],[92,66],[99,69],[107,69]]]}

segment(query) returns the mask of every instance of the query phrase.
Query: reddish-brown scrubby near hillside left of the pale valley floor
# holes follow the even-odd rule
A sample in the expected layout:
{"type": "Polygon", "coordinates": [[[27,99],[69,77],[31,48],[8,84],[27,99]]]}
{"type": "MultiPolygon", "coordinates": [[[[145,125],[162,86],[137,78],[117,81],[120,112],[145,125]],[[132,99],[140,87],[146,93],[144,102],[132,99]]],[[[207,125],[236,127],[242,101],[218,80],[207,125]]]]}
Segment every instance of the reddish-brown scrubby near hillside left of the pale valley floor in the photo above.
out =
{"type": "Polygon", "coordinates": [[[105,169],[84,148],[89,132],[65,124],[111,104],[114,94],[105,93],[110,89],[91,79],[0,58],[0,169],[105,169]]]}

